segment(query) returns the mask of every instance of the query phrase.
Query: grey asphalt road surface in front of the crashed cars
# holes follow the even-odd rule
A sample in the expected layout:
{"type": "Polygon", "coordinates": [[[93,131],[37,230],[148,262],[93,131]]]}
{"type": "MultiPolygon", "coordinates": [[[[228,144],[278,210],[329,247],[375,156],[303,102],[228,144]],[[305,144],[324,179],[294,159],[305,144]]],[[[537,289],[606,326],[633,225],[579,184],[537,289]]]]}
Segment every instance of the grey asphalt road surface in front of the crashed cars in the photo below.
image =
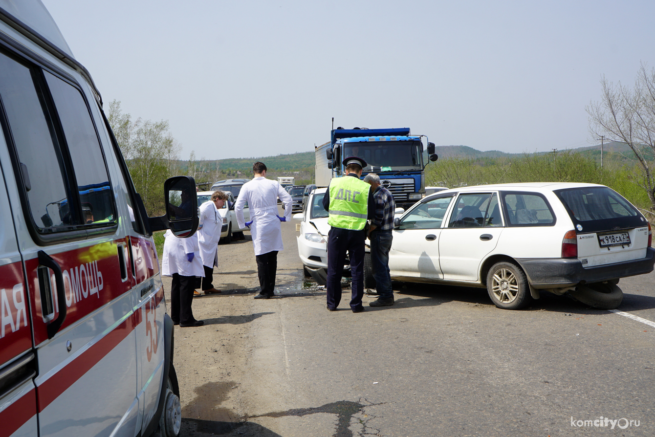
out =
{"type": "Polygon", "coordinates": [[[620,311],[641,321],[565,296],[508,311],[486,290],[409,283],[394,283],[393,307],[365,298],[354,314],[345,288],[328,312],[296,235],[283,226],[281,297],[244,300],[259,314],[239,381],[249,426],[229,435],[655,435],[653,274],[619,284],[620,311]]]}

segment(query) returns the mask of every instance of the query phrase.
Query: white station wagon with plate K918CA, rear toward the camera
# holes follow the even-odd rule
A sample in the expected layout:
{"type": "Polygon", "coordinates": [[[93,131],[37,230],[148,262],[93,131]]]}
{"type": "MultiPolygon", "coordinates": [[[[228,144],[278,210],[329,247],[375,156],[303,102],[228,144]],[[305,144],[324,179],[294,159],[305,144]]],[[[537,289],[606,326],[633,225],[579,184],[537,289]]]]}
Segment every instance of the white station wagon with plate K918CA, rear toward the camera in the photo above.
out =
{"type": "Polygon", "coordinates": [[[389,268],[395,280],[487,288],[504,309],[542,291],[614,309],[619,279],[653,270],[651,245],[645,217],[604,185],[480,185],[434,193],[396,218],[389,268]]]}

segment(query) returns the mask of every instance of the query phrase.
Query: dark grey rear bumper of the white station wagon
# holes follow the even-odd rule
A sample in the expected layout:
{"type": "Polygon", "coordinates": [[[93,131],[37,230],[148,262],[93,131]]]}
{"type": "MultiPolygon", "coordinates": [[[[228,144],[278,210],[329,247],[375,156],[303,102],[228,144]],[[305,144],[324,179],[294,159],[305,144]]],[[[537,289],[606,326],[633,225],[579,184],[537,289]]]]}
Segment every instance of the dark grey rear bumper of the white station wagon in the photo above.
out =
{"type": "Polygon", "coordinates": [[[655,249],[647,248],[646,257],[622,263],[582,267],[576,258],[517,258],[533,288],[559,288],[577,284],[643,275],[653,271],[655,249]]]}

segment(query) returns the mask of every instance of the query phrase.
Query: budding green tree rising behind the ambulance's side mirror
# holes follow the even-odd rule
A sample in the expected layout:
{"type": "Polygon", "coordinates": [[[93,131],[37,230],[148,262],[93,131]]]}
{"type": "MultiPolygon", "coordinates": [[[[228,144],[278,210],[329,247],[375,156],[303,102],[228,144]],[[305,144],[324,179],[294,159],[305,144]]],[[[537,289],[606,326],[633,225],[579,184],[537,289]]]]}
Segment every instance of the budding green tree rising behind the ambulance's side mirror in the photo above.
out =
{"type": "Polygon", "coordinates": [[[145,210],[151,216],[163,214],[164,181],[176,172],[181,149],[168,132],[168,121],[132,121],[117,100],[109,104],[107,119],[145,210]]]}

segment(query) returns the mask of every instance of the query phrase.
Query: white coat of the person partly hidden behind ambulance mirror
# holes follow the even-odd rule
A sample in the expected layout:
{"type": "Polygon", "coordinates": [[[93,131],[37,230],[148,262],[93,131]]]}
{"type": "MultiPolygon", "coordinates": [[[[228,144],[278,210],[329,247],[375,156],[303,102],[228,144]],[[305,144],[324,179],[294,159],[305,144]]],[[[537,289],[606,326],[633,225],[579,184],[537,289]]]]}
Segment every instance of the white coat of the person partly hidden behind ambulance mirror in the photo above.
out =
{"type": "Polygon", "coordinates": [[[169,229],[164,237],[166,237],[166,241],[162,257],[162,275],[173,276],[173,273],[178,273],[181,276],[204,277],[200,248],[198,247],[198,233],[189,238],[178,238],[169,229]],[[187,254],[191,254],[191,252],[194,257],[189,263],[187,254]]]}

